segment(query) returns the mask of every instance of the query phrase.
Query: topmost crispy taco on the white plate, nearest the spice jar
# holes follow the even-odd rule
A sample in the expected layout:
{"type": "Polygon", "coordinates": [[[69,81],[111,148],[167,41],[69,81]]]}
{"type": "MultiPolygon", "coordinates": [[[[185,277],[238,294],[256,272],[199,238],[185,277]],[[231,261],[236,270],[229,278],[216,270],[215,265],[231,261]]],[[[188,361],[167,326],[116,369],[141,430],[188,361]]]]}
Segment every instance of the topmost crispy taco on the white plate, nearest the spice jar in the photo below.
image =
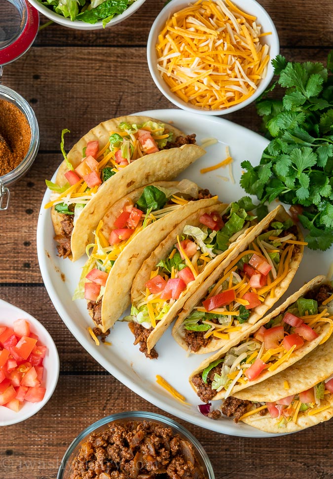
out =
{"type": "Polygon", "coordinates": [[[153,181],[172,180],[205,152],[195,135],[148,117],[127,116],[100,123],[66,155],[52,191],[51,207],[59,256],[82,256],[110,206],[153,181]],[[116,177],[115,177],[116,174],[116,177]]]}

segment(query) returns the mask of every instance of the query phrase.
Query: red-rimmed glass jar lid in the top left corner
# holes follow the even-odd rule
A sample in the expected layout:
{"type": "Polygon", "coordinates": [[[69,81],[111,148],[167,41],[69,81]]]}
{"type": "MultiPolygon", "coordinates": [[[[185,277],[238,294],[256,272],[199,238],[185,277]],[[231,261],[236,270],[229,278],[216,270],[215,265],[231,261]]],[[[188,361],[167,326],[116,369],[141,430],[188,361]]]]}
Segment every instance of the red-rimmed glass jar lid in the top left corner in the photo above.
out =
{"type": "MultiPolygon", "coordinates": [[[[8,2],[6,4],[1,3],[0,17],[4,18],[5,15],[10,14],[10,9],[17,8],[18,26],[15,35],[11,36],[11,39],[6,41],[6,38],[0,39],[0,66],[11,63],[21,55],[23,55],[34,42],[38,27],[39,27],[39,14],[35,7],[33,7],[27,0],[18,0],[16,3],[8,2]],[[1,13],[1,9],[6,10],[5,13],[1,13]],[[4,45],[1,48],[1,43],[4,45]]],[[[12,17],[11,17],[12,18],[12,17]]],[[[1,29],[2,34],[6,35],[6,30],[1,29]]]]}

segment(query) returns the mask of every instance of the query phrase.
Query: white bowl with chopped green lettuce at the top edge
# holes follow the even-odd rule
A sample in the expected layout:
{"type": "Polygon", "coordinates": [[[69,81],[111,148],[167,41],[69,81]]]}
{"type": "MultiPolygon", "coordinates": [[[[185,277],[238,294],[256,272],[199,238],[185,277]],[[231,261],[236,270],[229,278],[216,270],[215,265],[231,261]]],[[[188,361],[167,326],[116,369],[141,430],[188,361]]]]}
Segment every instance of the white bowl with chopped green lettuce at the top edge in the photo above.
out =
{"type": "Polygon", "coordinates": [[[146,0],[29,0],[53,22],[77,30],[98,30],[122,22],[146,0]]]}

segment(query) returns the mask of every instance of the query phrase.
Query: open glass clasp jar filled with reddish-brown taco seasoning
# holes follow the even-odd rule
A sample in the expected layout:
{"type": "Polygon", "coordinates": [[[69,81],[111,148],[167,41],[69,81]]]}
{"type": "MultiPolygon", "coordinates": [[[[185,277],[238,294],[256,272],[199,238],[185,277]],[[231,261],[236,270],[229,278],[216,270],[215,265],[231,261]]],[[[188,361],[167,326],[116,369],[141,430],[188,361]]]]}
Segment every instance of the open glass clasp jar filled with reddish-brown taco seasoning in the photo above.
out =
{"type": "Polygon", "coordinates": [[[8,186],[27,173],[38,147],[34,110],[16,91],[0,85],[0,210],[8,208],[8,186]]]}

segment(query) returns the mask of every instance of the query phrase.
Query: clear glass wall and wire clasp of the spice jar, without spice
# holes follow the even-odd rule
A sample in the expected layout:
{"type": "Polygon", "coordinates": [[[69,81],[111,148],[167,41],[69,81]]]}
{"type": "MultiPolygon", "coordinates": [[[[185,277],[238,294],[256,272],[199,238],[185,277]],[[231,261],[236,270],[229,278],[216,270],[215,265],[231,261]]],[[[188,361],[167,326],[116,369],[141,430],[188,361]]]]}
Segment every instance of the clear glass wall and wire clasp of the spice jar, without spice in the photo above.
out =
{"type": "Polygon", "coordinates": [[[14,184],[24,176],[33,164],[39,147],[39,129],[34,110],[29,103],[16,91],[0,85],[0,99],[13,103],[26,117],[31,129],[31,140],[28,152],[21,163],[5,175],[0,176],[0,210],[7,209],[10,200],[8,185],[14,184]]]}

